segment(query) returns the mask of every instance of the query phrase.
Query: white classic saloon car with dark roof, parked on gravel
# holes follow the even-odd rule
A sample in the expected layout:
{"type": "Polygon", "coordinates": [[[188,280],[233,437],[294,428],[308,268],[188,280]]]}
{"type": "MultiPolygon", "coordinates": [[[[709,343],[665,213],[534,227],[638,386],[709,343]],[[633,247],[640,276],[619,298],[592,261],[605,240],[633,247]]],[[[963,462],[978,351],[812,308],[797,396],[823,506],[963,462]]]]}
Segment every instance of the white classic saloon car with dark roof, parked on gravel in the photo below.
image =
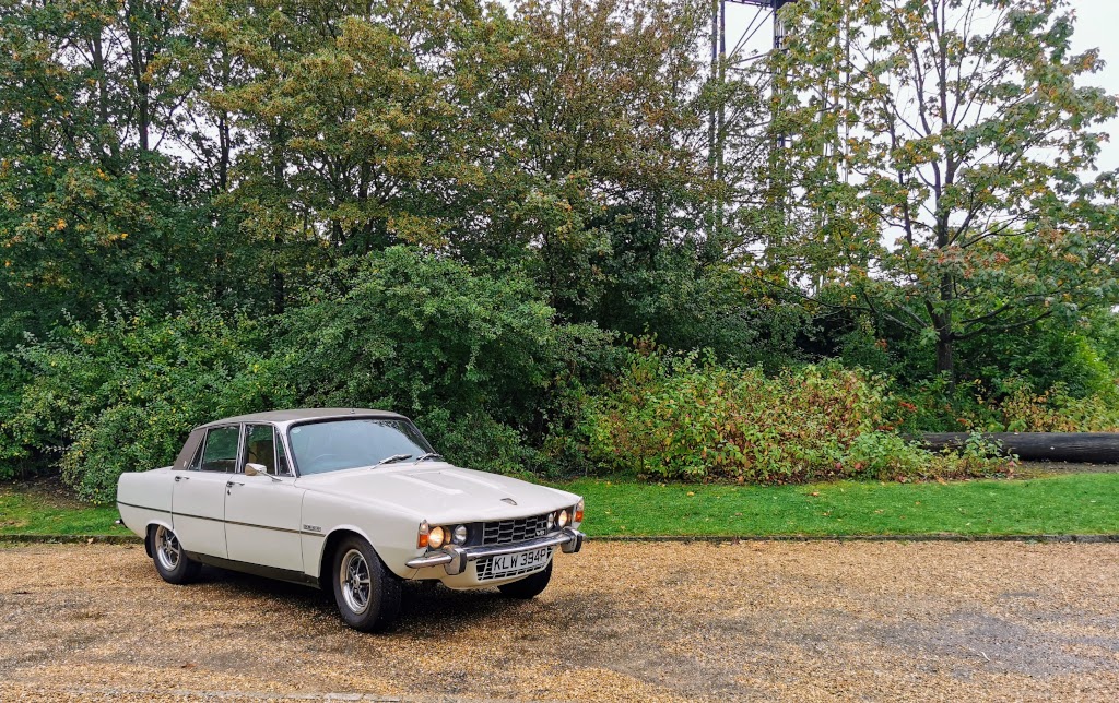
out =
{"type": "Polygon", "coordinates": [[[333,589],[360,630],[393,621],[404,580],[533,598],[556,548],[583,544],[577,495],[452,466],[380,410],[203,425],[172,466],[122,475],[116,501],[166,581],[211,564],[333,589]]]}

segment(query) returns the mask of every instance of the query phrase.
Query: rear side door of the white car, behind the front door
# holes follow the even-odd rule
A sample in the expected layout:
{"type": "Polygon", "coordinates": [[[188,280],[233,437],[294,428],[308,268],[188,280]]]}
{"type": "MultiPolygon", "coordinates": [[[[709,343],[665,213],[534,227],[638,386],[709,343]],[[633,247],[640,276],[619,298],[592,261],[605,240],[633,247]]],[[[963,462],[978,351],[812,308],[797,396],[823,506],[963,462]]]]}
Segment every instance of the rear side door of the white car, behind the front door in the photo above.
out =
{"type": "Polygon", "coordinates": [[[241,426],[223,425],[206,437],[187,471],[175,472],[171,520],[188,552],[226,559],[226,484],[237,465],[241,426]]]}

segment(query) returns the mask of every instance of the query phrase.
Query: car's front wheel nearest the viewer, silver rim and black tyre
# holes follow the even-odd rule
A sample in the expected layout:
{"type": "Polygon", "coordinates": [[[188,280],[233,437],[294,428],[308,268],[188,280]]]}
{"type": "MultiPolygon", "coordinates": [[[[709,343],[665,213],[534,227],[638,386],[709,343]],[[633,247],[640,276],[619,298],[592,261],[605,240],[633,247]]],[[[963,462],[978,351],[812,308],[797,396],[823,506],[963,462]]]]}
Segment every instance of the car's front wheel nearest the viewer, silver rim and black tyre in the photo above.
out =
{"type": "Polygon", "coordinates": [[[344,539],[333,555],[335,602],[342,620],[363,633],[387,629],[401,612],[401,581],[373,545],[358,536],[344,539]]]}

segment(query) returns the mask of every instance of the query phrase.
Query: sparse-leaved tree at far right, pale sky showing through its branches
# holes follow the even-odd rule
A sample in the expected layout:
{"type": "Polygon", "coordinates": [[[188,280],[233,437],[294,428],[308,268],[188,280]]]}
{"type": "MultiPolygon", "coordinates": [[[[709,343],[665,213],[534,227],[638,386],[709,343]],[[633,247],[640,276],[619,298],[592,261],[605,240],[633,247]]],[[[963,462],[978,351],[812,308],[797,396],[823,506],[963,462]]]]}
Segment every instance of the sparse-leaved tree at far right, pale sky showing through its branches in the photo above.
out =
{"type": "Polygon", "coordinates": [[[935,345],[1112,304],[1116,98],[1084,87],[1064,0],[819,0],[786,11],[789,171],[814,213],[784,256],[935,345]]]}

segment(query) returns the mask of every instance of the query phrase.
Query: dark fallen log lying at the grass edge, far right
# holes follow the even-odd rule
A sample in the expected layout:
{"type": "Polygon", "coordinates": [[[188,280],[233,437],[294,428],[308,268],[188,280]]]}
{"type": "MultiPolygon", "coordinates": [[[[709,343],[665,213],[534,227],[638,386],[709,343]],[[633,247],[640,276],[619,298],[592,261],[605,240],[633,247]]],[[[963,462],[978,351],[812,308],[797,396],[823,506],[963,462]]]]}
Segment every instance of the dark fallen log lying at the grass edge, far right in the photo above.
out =
{"type": "MultiPolygon", "coordinates": [[[[1119,433],[982,433],[1002,445],[1006,454],[1026,462],[1085,462],[1119,464],[1119,433]]],[[[925,433],[929,449],[958,449],[968,433],[925,433]]]]}

